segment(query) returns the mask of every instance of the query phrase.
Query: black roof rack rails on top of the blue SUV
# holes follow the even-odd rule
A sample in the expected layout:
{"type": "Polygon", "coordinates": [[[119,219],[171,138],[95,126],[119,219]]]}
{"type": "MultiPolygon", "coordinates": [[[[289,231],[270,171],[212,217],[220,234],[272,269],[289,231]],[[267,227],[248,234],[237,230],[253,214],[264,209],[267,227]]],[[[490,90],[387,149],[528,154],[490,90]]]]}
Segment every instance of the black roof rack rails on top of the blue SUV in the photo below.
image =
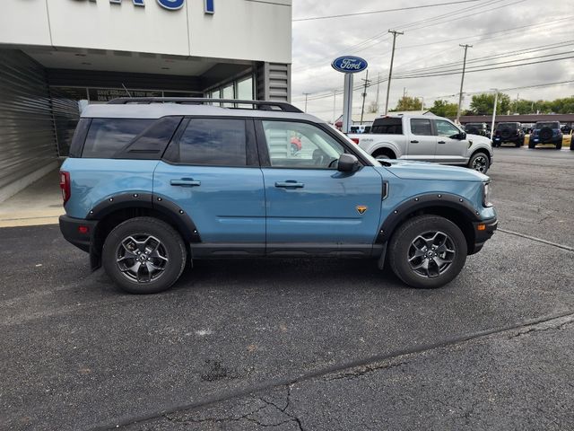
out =
{"type": "Polygon", "coordinates": [[[120,97],[112,99],[108,102],[109,105],[126,105],[126,104],[150,104],[150,103],[182,103],[190,105],[203,105],[205,103],[231,103],[233,107],[230,109],[245,109],[238,108],[237,105],[251,105],[254,110],[283,110],[283,112],[303,112],[299,108],[294,107],[291,103],[285,101],[237,101],[233,99],[206,99],[199,97],[120,97]]]}

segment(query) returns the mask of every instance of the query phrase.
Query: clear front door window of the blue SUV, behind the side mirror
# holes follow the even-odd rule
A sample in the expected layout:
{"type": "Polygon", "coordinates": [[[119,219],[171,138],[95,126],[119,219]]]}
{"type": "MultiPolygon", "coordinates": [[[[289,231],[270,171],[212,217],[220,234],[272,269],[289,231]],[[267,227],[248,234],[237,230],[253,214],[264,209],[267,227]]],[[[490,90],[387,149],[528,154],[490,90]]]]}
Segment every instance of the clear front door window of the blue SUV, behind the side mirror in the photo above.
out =
{"type": "Polygon", "coordinates": [[[344,146],[321,128],[295,121],[261,121],[274,168],[336,169],[344,146]]]}

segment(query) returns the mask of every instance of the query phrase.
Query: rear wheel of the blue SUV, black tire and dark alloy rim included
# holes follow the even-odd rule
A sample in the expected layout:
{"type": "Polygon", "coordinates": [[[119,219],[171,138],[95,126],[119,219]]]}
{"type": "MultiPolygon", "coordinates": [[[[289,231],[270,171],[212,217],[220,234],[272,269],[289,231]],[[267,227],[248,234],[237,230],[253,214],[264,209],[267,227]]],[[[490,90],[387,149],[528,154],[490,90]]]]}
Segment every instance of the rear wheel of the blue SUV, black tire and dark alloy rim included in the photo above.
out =
{"type": "Polygon", "coordinates": [[[186,246],[170,224],[153,217],[135,217],[109,233],[102,264],[126,292],[156,294],[178,280],[186,257],[186,246]]]}

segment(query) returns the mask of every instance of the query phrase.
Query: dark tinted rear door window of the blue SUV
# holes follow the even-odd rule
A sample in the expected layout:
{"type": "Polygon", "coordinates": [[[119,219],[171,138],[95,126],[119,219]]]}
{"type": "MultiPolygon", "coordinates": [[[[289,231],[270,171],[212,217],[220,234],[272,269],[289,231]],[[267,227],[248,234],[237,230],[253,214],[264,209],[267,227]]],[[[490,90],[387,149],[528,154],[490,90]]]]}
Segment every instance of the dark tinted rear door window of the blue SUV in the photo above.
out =
{"type": "Polygon", "coordinates": [[[182,164],[246,166],[246,145],[244,119],[189,119],[164,158],[182,164]]]}

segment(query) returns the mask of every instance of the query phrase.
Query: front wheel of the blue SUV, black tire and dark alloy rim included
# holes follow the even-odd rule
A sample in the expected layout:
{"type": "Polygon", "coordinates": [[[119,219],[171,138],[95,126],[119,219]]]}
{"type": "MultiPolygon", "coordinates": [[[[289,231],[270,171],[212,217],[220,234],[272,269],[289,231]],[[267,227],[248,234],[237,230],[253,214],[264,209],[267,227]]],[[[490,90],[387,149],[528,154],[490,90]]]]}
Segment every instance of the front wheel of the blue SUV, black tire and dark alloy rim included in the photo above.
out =
{"type": "Polygon", "coordinates": [[[405,284],[419,288],[444,286],[466,261],[465,235],[440,216],[416,216],[402,224],[388,245],[390,267],[405,284]]]}

